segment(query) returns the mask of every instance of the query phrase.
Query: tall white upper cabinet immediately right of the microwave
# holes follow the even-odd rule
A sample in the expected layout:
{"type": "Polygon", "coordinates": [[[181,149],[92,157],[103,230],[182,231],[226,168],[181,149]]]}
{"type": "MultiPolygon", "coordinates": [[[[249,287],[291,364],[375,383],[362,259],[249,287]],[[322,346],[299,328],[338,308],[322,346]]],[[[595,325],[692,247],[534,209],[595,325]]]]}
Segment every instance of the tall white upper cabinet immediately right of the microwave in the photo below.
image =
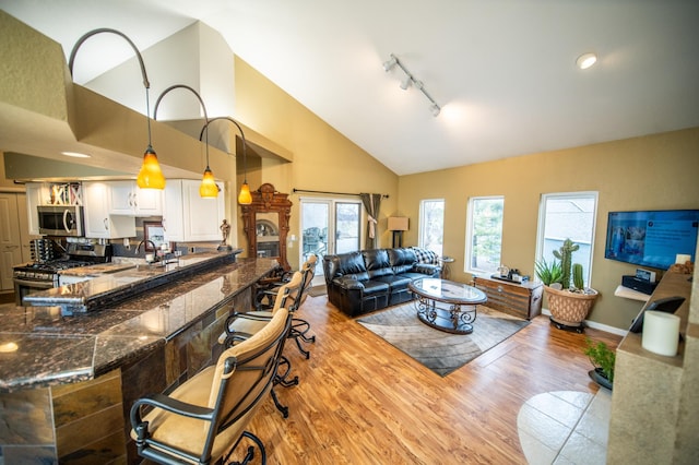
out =
{"type": "Polygon", "coordinates": [[[83,182],[85,237],[118,239],[135,237],[135,217],[112,215],[108,182],[83,182]]]}

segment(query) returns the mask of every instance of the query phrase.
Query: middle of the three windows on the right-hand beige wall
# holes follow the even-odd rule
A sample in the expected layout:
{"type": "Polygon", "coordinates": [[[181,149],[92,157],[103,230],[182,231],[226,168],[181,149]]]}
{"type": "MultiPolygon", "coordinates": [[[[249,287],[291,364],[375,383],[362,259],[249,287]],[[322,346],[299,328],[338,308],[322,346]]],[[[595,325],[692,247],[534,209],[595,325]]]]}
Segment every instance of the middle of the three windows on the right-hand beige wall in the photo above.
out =
{"type": "Polygon", "coordinates": [[[502,196],[469,200],[465,261],[469,272],[495,273],[500,266],[503,208],[502,196]]]}

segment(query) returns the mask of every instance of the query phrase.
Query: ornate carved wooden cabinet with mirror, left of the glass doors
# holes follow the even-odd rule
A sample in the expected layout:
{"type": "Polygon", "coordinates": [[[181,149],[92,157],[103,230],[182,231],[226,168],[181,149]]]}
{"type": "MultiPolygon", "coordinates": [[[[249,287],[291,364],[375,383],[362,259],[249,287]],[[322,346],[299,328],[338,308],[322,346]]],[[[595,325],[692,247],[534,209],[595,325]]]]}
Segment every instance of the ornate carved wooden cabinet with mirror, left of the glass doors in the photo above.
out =
{"type": "Polygon", "coordinates": [[[275,258],[284,270],[289,270],[286,235],[292,202],[287,199],[288,194],[277,192],[270,183],[260,186],[251,194],[252,203],[241,205],[242,228],[248,237],[248,257],[275,258]]]}

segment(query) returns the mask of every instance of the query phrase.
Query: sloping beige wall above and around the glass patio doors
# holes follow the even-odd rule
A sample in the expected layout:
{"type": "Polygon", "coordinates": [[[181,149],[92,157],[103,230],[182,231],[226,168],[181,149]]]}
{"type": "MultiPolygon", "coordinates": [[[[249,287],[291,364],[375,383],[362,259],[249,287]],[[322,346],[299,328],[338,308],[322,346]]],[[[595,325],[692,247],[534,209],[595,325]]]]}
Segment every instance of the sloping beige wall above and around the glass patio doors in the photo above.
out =
{"type": "MultiPolygon", "coordinates": [[[[280,192],[292,189],[389,194],[381,204],[381,243],[390,245],[387,217],[395,213],[398,175],[343,136],[327,122],[271,83],[245,61],[236,58],[236,115],[247,126],[294,153],[294,162],[262,160],[262,168],[248,166],[248,182],[256,190],[270,182],[280,192]]],[[[238,184],[240,184],[240,180],[238,184]]],[[[304,194],[307,195],[307,194],[304,194]]],[[[289,234],[299,235],[299,194],[289,195],[289,234]]],[[[238,214],[239,214],[238,210],[238,214]]],[[[241,225],[242,222],[239,222],[241,225]]],[[[241,231],[238,231],[241,234],[241,231]]],[[[245,247],[245,237],[238,243],[245,247]]],[[[289,245],[292,246],[292,245],[289,245]]],[[[288,250],[293,269],[298,266],[298,241],[288,250]]]]}

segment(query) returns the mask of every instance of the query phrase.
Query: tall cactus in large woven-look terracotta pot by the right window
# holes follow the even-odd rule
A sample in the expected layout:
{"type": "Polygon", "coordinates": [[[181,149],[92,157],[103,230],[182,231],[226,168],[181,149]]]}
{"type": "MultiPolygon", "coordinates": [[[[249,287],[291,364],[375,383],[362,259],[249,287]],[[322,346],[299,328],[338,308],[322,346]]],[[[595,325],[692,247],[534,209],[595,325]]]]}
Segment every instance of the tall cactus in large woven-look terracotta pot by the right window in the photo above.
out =
{"type": "Polygon", "coordinates": [[[579,248],[572,240],[566,239],[560,249],[554,250],[554,258],[558,261],[548,263],[542,259],[536,262],[535,272],[544,283],[552,323],[559,330],[582,333],[582,322],[599,293],[584,286],[582,265],[571,261],[572,252],[579,248]]]}

